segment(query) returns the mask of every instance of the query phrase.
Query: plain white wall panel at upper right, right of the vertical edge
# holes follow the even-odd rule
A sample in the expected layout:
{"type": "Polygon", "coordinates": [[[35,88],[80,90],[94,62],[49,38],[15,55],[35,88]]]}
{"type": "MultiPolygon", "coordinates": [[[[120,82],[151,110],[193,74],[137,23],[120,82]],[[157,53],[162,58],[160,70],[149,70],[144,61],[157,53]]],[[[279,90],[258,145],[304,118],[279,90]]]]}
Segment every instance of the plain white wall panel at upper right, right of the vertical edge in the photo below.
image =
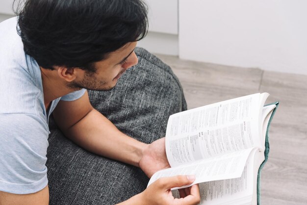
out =
{"type": "Polygon", "coordinates": [[[307,1],[179,0],[179,56],[307,75],[307,1]]]}

